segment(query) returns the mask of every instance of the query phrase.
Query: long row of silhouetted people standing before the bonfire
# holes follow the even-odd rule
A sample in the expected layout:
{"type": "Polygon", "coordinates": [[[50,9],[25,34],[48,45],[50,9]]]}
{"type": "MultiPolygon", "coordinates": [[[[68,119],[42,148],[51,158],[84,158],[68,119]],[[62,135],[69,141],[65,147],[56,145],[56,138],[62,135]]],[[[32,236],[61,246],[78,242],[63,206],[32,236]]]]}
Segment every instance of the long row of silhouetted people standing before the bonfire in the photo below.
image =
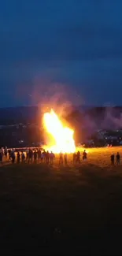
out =
{"type": "MultiPolygon", "coordinates": [[[[78,151],[74,154],[72,154],[72,162],[73,164],[80,163],[81,156],[83,157],[83,160],[87,159],[87,152],[86,150],[83,151],[83,155],[78,151]]],[[[17,162],[18,164],[21,163],[46,163],[46,164],[53,164],[54,158],[56,158],[56,155],[51,151],[48,150],[41,150],[38,149],[31,149],[28,150],[8,150],[7,147],[4,149],[2,148],[0,150],[0,162],[2,163],[3,157],[9,161],[12,161],[12,163],[17,162]]],[[[59,164],[68,164],[68,154],[62,153],[57,154],[57,158],[59,158],[59,164]]],[[[71,159],[70,159],[71,160],[71,159]]]]}

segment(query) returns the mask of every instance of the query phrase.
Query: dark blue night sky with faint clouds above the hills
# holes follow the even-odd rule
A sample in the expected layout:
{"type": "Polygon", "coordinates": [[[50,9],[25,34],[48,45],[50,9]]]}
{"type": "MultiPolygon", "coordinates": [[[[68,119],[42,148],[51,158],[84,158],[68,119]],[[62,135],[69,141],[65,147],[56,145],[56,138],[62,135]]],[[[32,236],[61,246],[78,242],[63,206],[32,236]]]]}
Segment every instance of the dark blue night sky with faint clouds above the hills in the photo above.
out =
{"type": "Polygon", "coordinates": [[[122,1],[2,0],[0,20],[0,106],[62,88],[122,105],[122,1]]]}

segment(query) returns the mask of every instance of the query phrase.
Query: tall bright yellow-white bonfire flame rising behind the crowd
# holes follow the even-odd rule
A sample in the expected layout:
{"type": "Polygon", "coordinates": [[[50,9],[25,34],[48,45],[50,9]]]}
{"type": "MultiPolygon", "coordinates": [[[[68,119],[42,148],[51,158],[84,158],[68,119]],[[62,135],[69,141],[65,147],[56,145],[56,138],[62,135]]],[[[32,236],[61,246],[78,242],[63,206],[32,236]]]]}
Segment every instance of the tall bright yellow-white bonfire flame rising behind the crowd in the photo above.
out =
{"type": "Polygon", "coordinates": [[[68,127],[64,127],[53,109],[50,110],[50,113],[44,113],[43,121],[46,132],[51,135],[52,140],[54,139],[54,145],[51,145],[48,150],[52,150],[54,153],[61,151],[73,153],[76,151],[75,141],[73,139],[74,131],[68,127]]]}

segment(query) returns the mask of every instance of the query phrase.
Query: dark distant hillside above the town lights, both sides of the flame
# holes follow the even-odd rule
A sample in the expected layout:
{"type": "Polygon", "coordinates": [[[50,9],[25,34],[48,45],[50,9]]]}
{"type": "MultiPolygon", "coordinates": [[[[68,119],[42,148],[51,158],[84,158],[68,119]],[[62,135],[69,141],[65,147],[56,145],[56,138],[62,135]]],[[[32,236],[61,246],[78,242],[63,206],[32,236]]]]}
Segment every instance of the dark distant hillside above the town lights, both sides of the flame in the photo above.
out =
{"type": "MultiPolygon", "coordinates": [[[[0,125],[17,124],[17,123],[35,123],[39,122],[40,109],[38,106],[21,106],[14,108],[0,108],[0,125]]],[[[65,118],[76,124],[82,123],[82,126],[90,128],[103,128],[114,124],[121,125],[122,106],[115,107],[84,107],[75,106],[72,112],[68,112],[65,118]]]]}

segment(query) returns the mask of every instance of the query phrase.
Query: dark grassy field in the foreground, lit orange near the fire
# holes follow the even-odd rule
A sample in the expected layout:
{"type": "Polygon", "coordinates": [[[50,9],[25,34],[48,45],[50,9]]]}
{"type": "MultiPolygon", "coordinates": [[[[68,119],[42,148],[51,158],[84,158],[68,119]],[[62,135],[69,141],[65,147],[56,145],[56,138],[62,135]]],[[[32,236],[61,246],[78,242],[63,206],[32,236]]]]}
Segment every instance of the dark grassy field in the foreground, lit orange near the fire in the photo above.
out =
{"type": "Polygon", "coordinates": [[[1,254],[122,254],[122,148],[88,151],[76,166],[1,166],[1,254]]]}

